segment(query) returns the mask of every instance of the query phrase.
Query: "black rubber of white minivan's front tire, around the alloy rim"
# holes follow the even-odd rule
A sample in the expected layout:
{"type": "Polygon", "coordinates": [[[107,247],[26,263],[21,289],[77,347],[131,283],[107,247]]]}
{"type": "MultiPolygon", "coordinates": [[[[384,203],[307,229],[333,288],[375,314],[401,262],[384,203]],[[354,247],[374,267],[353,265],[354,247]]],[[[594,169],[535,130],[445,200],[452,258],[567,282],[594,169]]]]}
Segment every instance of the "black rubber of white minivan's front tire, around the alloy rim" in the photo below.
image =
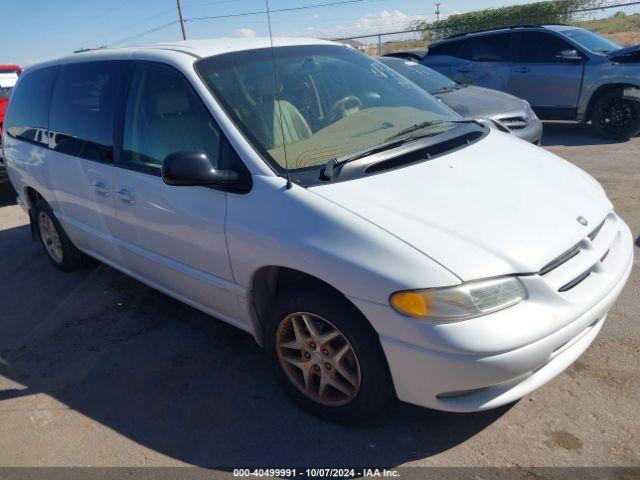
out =
{"type": "Polygon", "coordinates": [[[332,422],[355,421],[382,409],[395,398],[391,374],[380,339],[364,316],[346,298],[324,289],[284,291],[271,302],[265,318],[264,343],[274,374],[286,393],[305,411],[332,422]],[[359,364],[360,382],[349,403],[323,405],[290,380],[277,353],[280,323],[297,312],[328,320],[346,338],[359,364]]]}

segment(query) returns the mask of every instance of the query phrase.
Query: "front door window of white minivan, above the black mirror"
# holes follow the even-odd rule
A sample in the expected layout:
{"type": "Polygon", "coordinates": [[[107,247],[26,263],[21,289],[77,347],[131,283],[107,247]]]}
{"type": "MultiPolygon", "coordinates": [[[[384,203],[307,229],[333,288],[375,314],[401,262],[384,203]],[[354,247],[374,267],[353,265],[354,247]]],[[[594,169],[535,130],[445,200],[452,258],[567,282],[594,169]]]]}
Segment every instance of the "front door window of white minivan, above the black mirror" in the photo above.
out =
{"type": "Polygon", "coordinates": [[[187,80],[170,67],[136,65],[124,122],[122,164],[158,174],[172,153],[204,151],[220,158],[220,131],[187,80]]]}

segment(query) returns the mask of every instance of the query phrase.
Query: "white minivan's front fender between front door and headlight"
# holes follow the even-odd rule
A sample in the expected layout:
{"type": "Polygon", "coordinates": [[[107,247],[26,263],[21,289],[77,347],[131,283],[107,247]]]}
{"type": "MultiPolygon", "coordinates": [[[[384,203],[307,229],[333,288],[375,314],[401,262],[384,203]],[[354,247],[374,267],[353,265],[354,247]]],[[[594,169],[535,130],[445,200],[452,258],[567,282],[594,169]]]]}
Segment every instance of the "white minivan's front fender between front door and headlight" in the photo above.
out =
{"type": "Polygon", "coordinates": [[[280,177],[255,176],[247,195],[228,196],[227,239],[236,283],[282,266],[344,295],[388,303],[397,290],[457,285],[460,279],[389,232],[280,177]]]}

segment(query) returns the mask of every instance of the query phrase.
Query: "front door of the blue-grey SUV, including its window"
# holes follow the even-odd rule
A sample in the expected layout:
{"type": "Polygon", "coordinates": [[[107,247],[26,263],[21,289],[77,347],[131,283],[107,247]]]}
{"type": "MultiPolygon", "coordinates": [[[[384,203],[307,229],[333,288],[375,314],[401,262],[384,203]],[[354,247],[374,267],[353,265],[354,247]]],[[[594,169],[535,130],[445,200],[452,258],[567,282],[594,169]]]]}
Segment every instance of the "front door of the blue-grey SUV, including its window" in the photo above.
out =
{"type": "Polygon", "coordinates": [[[522,32],[519,38],[507,92],[538,111],[570,115],[580,97],[584,61],[562,60],[558,55],[576,48],[551,33],[522,32]]]}

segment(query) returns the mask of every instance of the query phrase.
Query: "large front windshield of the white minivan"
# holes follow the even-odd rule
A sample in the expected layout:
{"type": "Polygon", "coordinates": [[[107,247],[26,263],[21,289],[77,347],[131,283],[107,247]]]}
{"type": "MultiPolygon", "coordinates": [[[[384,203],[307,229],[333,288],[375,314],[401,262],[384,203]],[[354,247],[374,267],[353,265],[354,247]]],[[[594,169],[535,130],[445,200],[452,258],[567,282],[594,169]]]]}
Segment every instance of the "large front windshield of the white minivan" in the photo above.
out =
{"type": "Polygon", "coordinates": [[[434,122],[430,135],[459,127],[449,122],[460,118],[452,110],[348,47],[234,52],[201,60],[196,69],[278,173],[324,166],[384,144],[412,125],[434,122]]]}

